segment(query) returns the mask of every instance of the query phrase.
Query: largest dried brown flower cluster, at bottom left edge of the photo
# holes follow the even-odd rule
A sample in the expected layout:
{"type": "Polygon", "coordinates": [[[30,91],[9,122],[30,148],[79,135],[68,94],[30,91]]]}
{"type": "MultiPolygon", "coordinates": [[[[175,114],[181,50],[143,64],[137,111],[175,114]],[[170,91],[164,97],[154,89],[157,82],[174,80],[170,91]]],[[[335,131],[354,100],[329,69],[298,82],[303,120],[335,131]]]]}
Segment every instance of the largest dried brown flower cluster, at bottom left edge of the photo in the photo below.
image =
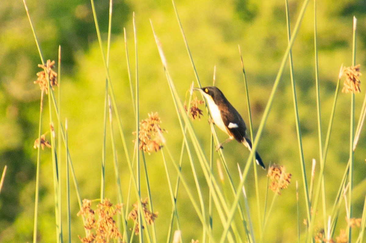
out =
{"type": "Polygon", "coordinates": [[[122,234],[118,231],[113,216],[120,213],[122,204],[116,204],[113,208],[113,204],[109,199],[105,198],[102,203],[97,205],[96,214],[98,219],[96,220],[95,212],[91,209],[91,201],[84,199],[82,209],[78,212],[78,216],[82,215],[86,217],[84,228],[86,229],[86,236],[79,239],[83,243],[107,243],[110,239],[118,240],[121,242],[122,234]],[[95,230],[95,233],[93,232],[95,230]]]}

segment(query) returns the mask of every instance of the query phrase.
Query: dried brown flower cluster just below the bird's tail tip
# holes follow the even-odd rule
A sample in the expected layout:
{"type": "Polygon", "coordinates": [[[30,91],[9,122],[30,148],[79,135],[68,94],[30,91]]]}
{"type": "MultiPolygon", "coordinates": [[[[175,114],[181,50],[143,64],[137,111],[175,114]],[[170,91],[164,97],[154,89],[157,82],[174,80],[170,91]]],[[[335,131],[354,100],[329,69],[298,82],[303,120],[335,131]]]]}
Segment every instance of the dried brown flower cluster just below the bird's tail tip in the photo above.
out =
{"type": "Polygon", "coordinates": [[[291,173],[285,173],[283,166],[278,164],[269,167],[267,176],[270,179],[269,188],[278,192],[279,195],[281,195],[280,189],[287,188],[291,181],[291,173]]]}

